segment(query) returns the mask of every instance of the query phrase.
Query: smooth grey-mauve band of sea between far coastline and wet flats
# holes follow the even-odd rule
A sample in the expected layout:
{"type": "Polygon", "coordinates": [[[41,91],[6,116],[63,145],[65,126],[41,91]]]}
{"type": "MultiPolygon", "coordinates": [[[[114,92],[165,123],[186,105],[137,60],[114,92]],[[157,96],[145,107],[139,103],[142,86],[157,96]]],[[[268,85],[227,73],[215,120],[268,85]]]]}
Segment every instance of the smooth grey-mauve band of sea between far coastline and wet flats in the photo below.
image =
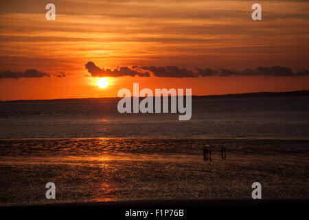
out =
{"type": "Polygon", "coordinates": [[[117,100],[0,102],[0,138],[309,137],[309,96],[194,98],[192,119],[178,115],[120,114],[117,100]]]}

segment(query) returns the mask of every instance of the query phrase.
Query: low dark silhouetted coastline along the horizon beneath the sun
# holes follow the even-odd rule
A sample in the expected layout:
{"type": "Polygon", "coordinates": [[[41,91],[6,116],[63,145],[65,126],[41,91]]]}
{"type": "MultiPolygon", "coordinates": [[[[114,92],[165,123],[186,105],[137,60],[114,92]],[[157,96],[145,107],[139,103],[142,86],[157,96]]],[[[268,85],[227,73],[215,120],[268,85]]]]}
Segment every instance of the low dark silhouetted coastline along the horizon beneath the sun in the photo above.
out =
{"type": "MultiPolygon", "coordinates": [[[[240,97],[279,97],[279,96],[309,96],[309,90],[298,91],[279,91],[279,92],[251,92],[244,94],[224,94],[224,95],[207,95],[207,96],[192,96],[192,98],[240,98],[240,97]]],[[[119,100],[118,97],[105,98],[56,98],[43,100],[0,100],[0,102],[49,102],[49,101],[83,101],[83,100],[119,100]]]]}

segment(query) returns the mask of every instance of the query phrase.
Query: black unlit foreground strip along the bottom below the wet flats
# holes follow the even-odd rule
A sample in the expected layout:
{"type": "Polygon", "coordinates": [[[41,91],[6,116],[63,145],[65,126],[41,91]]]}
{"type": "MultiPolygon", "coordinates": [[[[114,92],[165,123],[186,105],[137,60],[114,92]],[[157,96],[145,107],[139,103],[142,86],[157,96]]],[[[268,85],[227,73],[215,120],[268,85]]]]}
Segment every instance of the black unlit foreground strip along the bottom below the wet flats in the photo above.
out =
{"type": "Polygon", "coordinates": [[[1,207],[0,213],[39,219],[275,219],[308,216],[309,199],[214,199],[61,203],[1,207]]]}

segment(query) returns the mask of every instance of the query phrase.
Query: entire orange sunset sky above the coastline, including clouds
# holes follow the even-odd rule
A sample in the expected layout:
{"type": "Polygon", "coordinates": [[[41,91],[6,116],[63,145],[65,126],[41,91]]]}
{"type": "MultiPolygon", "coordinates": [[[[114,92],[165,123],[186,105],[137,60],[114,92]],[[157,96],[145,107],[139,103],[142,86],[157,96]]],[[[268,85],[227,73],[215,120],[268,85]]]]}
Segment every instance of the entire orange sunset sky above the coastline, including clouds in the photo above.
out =
{"type": "Polygon", "coordinates": [[[115,97],[133,83],[198,96],[309,89],[308,12],[305,0],[0,1],[0,100],[115,97]]]}

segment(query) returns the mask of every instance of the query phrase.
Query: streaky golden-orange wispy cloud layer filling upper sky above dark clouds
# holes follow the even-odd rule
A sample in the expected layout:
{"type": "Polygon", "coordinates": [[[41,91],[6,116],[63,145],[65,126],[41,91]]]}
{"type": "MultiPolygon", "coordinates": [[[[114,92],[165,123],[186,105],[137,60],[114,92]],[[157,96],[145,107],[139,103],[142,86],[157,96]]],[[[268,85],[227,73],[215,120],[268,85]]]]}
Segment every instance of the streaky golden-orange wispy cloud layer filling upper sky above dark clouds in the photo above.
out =
{"type": "MultiPolygon", "coordinates": [[[[0,2],[0,56],[7,56],[11,66],[20,65],[18,56],[23,56],[40,58],[43,69],[82,67],[85,57],[104,60],[108,66],[170,63],[191,69],[256,65],[308,69],[306,0],[263,1],[262,22],[252,21],[249,0],[53,3],[54,22],[45,19],[44,1],[0,2]]],[[[1,69],[11,66],[0,61],[1,69]]],[[[28,66],[33,65],[19,67],[28,66]]]]}

